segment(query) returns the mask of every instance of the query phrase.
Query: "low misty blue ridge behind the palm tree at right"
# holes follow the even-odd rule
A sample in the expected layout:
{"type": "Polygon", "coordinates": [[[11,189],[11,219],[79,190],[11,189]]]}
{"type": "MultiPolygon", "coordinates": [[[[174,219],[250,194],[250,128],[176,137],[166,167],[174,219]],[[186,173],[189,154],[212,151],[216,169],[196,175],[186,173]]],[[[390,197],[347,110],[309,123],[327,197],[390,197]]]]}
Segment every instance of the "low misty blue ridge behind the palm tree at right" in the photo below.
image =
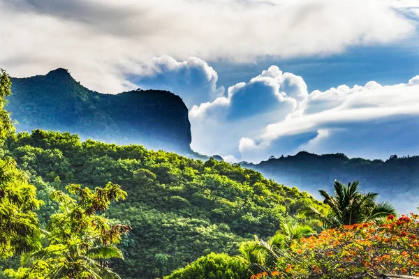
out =
{"type": "Polygon", "coordinates": [[[399,213],[417,212],[419,206],[419,156],[391,156],[383,161],[350,159],[343,153],[316,155],[302,151],[295,156],[240,165],[318,198],[318,189],[332,193],[335,179],[344,183],[358,179],[362,189],[379,193],[378,198],[391,202],[399,213]]]}

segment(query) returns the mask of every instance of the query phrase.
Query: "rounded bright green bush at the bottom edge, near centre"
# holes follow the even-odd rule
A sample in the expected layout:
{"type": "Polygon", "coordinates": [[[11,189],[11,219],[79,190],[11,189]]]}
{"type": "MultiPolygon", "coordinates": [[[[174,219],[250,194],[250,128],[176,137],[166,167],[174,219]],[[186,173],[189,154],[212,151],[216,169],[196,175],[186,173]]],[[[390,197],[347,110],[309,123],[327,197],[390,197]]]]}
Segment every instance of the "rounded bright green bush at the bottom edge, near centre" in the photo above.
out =
{"type": "Polygon", "coordinates": [[[211,253],[166,276],[165,279],[244,279],[247,266],[240,257],[211,253]]]}

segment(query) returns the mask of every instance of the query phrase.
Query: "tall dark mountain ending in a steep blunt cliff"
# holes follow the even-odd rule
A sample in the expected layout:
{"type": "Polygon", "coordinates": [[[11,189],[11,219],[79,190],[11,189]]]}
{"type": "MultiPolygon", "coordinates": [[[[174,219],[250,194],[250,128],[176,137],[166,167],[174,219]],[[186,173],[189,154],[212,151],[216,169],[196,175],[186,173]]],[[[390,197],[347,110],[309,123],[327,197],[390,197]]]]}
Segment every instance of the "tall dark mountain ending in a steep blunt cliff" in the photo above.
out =
{"type": "Polygon", "coordinates": [[[18,131],[59,130],[78,133],[82,139],[191,153],[188,109],[168,91],[98,93],[63,68],[13,78],[12,83],[6,109],[18,121],[18,131]]]}

